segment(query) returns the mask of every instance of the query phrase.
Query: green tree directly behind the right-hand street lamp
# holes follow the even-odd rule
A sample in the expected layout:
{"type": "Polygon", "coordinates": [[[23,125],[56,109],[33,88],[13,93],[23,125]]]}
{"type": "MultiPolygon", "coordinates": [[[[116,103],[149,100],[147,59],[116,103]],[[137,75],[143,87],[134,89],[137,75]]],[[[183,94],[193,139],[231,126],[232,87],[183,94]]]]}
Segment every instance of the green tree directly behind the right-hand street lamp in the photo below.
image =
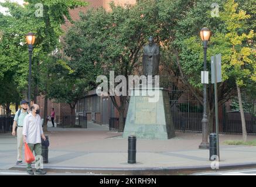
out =
{"type": "MultiPolygon", "coordinates": [[[[163,50],[163,57],[166,59],[164,63],[168,62],[169,59],[169,63],[172,64],[170,68],[176,75],[180,76],[183,83],[192,91],[200,103],[203,103],[203,85],[200,83],[199,77],[200,71],[203,70],[203,46],[199,37],[199,31],[202,27],[208,27],[212,33],[207,50],[207,68],[209,71],[210,57],[221,53],[223,82],[218,84],[219,105],[226,102],[235,92],[235,79],[237,79],[237,74],[240,72],[236,72],[234,65],[231,64],[233,50],[231,42],[227,40],[228,22],[231,19],[221,17],[222,14],[230,13],[230,10],[224,8],[228,2],[214,1],[219,5],[220,16],[217,17],[211,16],[212,1],[159,1],[158,4],[161,13],[160,18],[163,22],[160,35],[165,39],[163,40],[163,49],[165,49],[163,50]],[[178,7],[182,9],[178,11],[178,7]]],[[[231,2],[231,4],[234,4],[234,2],[231,2]]],[[[246,1],[246,4],[252,5],[252,2],[246,1]]],[[[249,9],[248,12],[251,13],[254,11],[242,5],[241,3],[238,7],[249,9]]],[[[255,21],[250,20],[250,23],[247,22],[241,26],[240,34],[248,33],[249,28],[252,28],[251,23],[255,23],[255,21]]],[[[252,46],[250,47],[252,49],[252,46]]],[[[251,51],[247,50],[245,52],[248,56],[252,55],[251,51]]],[[[255,70],[252,66],[253,63],[251,70],[255,70]]],[[[251,76],[254,74],[255,72],[250,72],[251,76]]],[[[243,77],[243,79],[247,78],[243,77]]],[[[210,123],[209,131],[211,132],[213,130],[214,113],[213,85],[209,84],[207,90],[207,115],[210,123]]]]}

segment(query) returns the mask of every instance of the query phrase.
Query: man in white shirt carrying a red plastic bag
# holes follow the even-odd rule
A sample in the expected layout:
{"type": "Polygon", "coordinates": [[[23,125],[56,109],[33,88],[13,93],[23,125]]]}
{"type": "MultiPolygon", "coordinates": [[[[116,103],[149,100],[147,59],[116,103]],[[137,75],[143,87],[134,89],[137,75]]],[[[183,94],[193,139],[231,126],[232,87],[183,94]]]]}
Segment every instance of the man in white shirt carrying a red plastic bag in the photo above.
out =
{"type": "MultiPolygon", "coordinates": [[[[41,137],[43,140],[46,140],[45,135],[43,134],[43,129],[41,125],[41,117],[39,116],[40,110],[39,106],[34,104],[31,107],[31,113],[29,113],[23,121],[23,141],[28,143],[30,150],[35,151],[36,156],[42,155],[42,145],[41,137]]],[[[36,162],[39,161],[39,158],[36,157],[36,162]]],[[[40,165],[41,166],[41,165],[40,165]]],[[[33,175],[31,164],[27,165],[28,174],[33,175]]],[[[36,169],[36,174],[46,174],[42,168],[36,169]]]]}

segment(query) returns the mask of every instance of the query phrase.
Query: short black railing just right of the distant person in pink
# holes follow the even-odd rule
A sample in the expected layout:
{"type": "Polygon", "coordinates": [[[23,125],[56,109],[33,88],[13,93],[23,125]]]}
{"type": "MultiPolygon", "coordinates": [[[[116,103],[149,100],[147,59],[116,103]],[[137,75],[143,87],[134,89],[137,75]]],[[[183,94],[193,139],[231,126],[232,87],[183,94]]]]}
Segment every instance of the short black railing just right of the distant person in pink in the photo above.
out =
{"type": "Polygon", "coordinates": [[[87,116],[56,116],[57,127],[87,129],[87,116]]]}

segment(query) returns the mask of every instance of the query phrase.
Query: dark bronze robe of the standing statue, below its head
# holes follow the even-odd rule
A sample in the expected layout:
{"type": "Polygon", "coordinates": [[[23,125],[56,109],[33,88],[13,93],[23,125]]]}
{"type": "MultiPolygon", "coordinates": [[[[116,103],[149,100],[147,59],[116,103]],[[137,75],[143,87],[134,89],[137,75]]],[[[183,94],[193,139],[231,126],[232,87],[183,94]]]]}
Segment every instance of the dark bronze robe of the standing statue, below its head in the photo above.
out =
{"type": "Polygon", "coordinates": [[[149,45],[145,46],[144,54],[142,58],[143,74],[146,76],[157,75],[159,73],[159,62],[160,62],[159,47],[156,44],[153,44],[152,47],[150,47],[149,45]]]}

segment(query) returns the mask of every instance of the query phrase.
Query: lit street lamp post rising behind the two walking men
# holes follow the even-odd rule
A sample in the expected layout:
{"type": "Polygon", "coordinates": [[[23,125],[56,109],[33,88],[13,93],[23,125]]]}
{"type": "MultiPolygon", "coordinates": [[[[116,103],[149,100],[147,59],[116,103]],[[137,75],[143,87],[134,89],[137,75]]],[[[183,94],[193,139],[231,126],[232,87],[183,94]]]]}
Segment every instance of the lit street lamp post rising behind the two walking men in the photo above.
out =
{"type": "Polygon", "coordinates": [[[28,33],[26,35],[26,41],[29,47],[29,89],[28,89],[28,101],[30,107],[30,96],[31,96],[31,74],[32,74],[32,52],[33,52],[33,44],[35,43],[36,36],[33,33],[28,33]]]}

